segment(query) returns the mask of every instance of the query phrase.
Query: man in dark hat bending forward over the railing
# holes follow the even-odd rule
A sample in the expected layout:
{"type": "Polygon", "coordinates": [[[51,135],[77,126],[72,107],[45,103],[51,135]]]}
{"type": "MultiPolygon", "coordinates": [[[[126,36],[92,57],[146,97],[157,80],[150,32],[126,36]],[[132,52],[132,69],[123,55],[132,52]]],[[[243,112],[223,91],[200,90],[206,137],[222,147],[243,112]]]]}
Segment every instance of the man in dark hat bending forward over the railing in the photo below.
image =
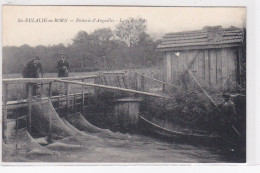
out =
{"type": "MultiPolygon", "coordinates": [[[[22,75],[23,78],[39,78],[44,77],[42,64],[40,62],[40,58],[35,56],[32,60],[30,60],[23,69],[22,75]]],[[[33,85],[33,95],[36,95],[37,92],[37,85],[33,85]]],[[[28,93],[29,84],[26,84],[26,91],[28,93]]]]}

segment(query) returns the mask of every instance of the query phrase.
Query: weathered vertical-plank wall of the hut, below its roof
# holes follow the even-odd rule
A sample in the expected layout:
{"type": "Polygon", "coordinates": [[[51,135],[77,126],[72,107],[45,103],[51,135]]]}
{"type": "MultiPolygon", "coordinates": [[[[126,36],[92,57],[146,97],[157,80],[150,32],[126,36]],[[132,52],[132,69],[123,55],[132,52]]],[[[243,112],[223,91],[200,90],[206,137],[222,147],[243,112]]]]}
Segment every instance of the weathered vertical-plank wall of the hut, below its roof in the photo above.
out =
{"type": "MultiPolygon", "coordinates": [[[[202,85],[214,87],[222,91],[236,90],[236,84],[227,79],[240,83],[239,75],[243,63],[242,48],[222,48],[207,50],[186,50],[165,53],[165,80],[175,83],[183,74],[188,74],[183,63],[194,74],[202,85]]],[[[189,80],[193,80],[189,77],[189,80]]]]}

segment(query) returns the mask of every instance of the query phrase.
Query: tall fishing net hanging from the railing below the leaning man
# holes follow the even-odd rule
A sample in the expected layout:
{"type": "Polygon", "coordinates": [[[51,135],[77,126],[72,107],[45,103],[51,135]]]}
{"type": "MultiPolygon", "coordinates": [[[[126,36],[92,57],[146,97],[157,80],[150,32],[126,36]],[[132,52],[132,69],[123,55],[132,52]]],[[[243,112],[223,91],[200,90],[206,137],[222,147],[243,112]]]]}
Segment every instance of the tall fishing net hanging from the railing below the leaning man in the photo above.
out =
{"type": "Polygon", "coordinates": [[[55,139],[77,134],[62,121],[50,100],[33,102],[32,127],[36,133],[47,136],[49,134],[49,124],[51,124],[52,137],[55,139]]]}

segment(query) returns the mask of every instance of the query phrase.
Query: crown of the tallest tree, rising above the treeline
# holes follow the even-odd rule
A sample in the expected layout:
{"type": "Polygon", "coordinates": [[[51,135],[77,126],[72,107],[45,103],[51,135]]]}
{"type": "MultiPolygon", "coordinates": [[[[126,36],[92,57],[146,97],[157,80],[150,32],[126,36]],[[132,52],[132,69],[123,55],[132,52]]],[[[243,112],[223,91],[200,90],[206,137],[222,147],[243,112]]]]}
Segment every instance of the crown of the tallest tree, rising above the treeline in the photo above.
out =
{"type": "Polygon", "coordinates": [[[120,21],[116,25],[115,34],[122,41],[124,41],[128,47],[132,47],[137,44],[140,35],[146,30],[146,20],[142,18],[128,18],[127,20],[120,21]]]}

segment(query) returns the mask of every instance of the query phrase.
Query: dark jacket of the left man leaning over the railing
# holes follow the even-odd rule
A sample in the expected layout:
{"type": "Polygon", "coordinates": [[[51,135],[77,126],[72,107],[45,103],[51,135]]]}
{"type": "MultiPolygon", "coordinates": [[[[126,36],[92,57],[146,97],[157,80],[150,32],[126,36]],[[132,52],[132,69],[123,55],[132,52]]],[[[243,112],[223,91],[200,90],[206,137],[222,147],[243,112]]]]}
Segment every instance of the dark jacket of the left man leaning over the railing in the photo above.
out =
{"type": "Polygon", "coordinates": [[[43,75],[42,64],[34,63],[34,60],[29,61],[23,69],[22,75],[24,78],[39,78],[40,73],[43,75]]]}

